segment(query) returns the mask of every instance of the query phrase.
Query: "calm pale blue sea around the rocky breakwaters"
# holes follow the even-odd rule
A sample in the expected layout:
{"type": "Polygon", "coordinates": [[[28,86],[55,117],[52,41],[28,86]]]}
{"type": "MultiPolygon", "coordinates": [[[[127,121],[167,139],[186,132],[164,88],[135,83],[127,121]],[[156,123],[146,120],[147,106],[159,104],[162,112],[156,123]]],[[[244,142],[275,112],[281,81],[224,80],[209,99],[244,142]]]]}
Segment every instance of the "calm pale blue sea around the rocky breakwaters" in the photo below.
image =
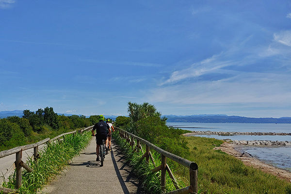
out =
{"type": "MultiPolygon", "coordinates": [[[[283,132],[291,133],[291,124],[273,123],[178,123],[167,122],[167,126],[191,131],[225,131],[225,132],[283,132]]],[[[215,139],[231,140],[271,140],[291,141],[290,135],[195,135],[215,139]]],[[[241,152],[248,152],[259,160],[291,172],[291,146],[239,146],[241,152]]]]}

